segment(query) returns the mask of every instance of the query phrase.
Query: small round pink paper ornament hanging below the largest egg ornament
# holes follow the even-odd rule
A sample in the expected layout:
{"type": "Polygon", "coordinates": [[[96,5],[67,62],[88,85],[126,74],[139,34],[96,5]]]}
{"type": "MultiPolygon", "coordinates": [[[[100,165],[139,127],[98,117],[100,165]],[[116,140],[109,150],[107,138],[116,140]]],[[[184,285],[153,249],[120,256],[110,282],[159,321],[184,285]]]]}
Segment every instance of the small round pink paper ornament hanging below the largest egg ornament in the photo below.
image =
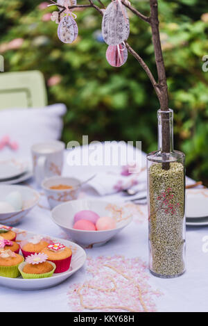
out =
{"type": "Polygon", "coordinates": [[[106,51],[107,62],[112,67],[121,67],[128,58],[128,51],[125,44],[109,45],[106,51]]]}

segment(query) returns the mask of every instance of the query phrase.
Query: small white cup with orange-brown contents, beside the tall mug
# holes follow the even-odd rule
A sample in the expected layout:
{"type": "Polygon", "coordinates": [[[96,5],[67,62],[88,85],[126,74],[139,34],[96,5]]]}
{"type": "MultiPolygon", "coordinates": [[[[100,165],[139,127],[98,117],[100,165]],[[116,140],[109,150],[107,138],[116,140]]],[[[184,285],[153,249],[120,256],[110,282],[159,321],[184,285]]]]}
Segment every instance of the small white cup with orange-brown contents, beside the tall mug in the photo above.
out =
{"type": "Polygon", "coordinates": [[[49,206],[53,209],[55,206],[62,204],[63,202],[69,202],[69,200],[77,199],[80,191],[80,181],[75,178],[69,177],[51,177],[42,181],[42,188],[48,199],[49,206]],[[50,189],[51,186],[58,186],[64,184],[72,186],[71,189],[57,190],[50,189]]]}

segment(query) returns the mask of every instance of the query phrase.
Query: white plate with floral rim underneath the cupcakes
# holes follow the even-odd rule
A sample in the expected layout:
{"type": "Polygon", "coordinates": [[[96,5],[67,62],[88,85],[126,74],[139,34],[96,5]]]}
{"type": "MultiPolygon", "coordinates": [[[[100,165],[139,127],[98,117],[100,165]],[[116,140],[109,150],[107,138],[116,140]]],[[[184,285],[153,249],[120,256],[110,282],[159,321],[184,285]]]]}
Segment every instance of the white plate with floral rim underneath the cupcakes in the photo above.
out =
{"type": "MultiPolygon", "coordinates": [[[[16,239],[17,242],[24,240],[26,238],[37,236],[37,234],[30,231],[24,231],[17,228],[12,228],[12,230],[17,232],[17,239],[16,239]]],[[[40,236],[51,238],[51,240],[53,240],[54,242],[60,242],[63,245],[71,248],[72,257],[71,257],[71,266],[69,270],[67,270],[67,272],[53,274],[51,277],[44,278],[44,279],[22,279],[22,277],[17,277],[16,279],[12,279],[10,277],[1,276],[0,286],[15,288],[17,290],[40,290],[42,288],[51,288],[51,286],[55,286],[63,282],[65,279],[70,277],[73,273],[75,273],[84,265],[86,260],[85,250],[83,250],[83,248],[80,247],[79,245],[76,245],[76,243],[60,238],[45,236],[45,235],[40,235],[40,236]]]]}

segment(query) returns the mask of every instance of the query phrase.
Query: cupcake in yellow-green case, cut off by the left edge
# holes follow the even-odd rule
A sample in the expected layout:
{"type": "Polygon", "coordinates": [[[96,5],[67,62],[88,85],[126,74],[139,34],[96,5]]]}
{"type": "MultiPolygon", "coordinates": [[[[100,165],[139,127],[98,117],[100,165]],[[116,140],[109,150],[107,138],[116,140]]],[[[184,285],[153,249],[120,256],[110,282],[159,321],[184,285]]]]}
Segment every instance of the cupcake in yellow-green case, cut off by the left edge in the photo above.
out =
{"type": "Polygon", "coordinates": [[[12,250],[0,251],[0,276],[18,277],[20,275],[18,266],[24,261],[23,256],[15,254],[12,250]]]}

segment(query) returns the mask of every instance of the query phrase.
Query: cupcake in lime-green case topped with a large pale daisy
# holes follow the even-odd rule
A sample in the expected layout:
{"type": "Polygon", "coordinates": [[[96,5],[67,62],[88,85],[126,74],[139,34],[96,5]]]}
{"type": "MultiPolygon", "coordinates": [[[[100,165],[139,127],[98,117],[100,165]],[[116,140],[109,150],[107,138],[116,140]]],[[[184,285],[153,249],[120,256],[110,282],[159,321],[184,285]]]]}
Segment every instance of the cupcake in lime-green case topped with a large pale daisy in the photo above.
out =
{"type": "Polygon", "coordinates": [[[43,253],[27,256],[24,263],[19,265],[19,272],[24,279],[42,279],[51,277],[55,270],[55,263],[47,261],[48,256],[43,253]]]}

